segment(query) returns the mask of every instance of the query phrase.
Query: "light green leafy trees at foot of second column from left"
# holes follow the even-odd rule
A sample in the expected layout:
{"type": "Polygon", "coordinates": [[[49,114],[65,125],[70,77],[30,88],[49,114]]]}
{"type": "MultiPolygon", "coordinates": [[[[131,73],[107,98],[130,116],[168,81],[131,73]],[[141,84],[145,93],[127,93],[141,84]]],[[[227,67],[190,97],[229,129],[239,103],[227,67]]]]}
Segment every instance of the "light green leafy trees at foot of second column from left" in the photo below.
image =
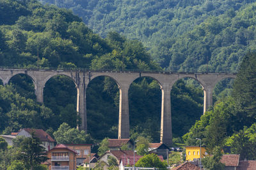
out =
{"type": "Polygon", "coordinates": [[[53,133],[54,139],[57,143],[63,144],[93,144],[94,141],[90,134],[84,131],[78,131],[76,128],[71,128],[68,124],[63,123],[58,128],[58,131],[53,133]]]}

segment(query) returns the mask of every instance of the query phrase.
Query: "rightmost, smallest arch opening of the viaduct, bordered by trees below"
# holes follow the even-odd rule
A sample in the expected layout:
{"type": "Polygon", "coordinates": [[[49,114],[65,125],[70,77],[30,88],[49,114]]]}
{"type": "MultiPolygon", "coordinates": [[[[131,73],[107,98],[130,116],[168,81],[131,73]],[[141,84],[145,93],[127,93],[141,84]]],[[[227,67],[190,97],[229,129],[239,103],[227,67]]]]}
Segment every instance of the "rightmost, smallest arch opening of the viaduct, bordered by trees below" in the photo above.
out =
{"type": "Polygon", "coordinates": [[[224,78],[223,80],[219,81],[213,89],[213,103],[220,101],[221,99],[225,99],[225,97],[231,96],[233,84],[234,78],[224,78]]]}

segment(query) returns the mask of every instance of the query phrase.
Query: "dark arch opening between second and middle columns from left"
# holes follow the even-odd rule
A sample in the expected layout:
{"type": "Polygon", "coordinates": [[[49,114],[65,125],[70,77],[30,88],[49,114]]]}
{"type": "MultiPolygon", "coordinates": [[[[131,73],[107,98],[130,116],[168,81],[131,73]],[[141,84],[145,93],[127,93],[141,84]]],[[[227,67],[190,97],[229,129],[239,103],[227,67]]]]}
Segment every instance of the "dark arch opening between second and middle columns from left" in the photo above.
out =
{"type": "Polygon", "coordinates": [[[92,138],[118,137],[119,94],[117,81],[108,75],[95,76],[88,83],[87,127],[92,138]]]}

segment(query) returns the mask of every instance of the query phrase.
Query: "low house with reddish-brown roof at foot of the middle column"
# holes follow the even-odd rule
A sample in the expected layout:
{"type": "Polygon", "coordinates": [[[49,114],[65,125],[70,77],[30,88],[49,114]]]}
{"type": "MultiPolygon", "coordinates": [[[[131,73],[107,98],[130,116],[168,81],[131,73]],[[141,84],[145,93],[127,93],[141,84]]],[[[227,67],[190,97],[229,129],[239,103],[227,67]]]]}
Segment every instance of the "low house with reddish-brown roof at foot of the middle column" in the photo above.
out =
{"type": "Polygon", "coordinates": [[[124,145],[127,145],[128,149],[133,149],[131,139],[108,139],[109,150],[120,150],[124,145]]]}

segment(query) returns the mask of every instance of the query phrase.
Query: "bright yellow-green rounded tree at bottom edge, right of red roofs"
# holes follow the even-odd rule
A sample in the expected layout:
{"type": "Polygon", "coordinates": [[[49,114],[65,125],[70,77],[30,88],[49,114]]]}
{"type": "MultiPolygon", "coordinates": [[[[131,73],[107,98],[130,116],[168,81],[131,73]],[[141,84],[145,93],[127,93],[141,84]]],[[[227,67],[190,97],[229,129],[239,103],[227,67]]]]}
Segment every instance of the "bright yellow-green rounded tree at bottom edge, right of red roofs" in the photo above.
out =
{"type": "Polygon", "coordinates": [[[161,159],[155,154],[151,153],[141,157],[135,164],[136,167],[156,167],[159,169],[167,169],[167,163],[162,162],[161,159]]]}

